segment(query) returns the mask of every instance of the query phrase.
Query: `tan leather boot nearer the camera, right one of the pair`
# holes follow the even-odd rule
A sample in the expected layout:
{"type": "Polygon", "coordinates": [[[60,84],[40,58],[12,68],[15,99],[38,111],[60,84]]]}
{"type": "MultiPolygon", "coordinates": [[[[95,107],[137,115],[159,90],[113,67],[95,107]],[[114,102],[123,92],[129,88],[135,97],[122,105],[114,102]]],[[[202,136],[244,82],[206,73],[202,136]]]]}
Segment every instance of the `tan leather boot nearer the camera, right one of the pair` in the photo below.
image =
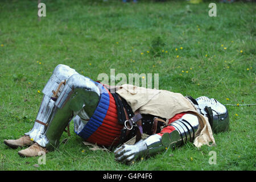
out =
{"type": "MultiPolygon", "coordinates": [[[[46,147],[41,147],[39,146],[38,143],[33,143],[30,147],[21,150],[18,152],[18,154],[22,157],[34,157],[34,156],[39,156],[39,152],[43,151],[47,153],[48,151],[46,150],[46,147]]],[[[42,154],[42,153],[41,153],[42,154]]],[[[40,154],[40,155],[41,155],[40,154]]]]}

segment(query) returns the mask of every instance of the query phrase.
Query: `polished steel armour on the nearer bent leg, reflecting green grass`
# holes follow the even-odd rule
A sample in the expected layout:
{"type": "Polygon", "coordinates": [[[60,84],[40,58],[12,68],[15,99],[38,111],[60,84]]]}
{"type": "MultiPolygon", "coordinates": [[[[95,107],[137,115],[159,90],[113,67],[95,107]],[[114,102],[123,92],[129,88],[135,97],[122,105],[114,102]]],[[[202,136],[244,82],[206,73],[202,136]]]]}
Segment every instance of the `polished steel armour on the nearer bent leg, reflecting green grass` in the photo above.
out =
{"type": "Polygon", "coordinates": [[[55,102],[45,133],[36,142],[49,151],[54,150],[71,119],[85,106],[88,107],[86,113],[93,114],[99,99],[100,90],[92,80],[79,74],[72,75],[55,102]]]}

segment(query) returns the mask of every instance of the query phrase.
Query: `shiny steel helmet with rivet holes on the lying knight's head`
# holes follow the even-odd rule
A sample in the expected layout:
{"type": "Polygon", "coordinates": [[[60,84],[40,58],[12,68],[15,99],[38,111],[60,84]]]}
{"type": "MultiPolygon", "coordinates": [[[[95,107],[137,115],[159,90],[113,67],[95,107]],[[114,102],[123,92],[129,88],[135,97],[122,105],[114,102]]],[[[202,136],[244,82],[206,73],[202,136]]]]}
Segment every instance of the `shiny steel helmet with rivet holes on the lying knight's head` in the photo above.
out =
{"type": "Polygon", "coordinates": [[[209,119],[213,133],[227,131],[229,129],[228,109],[214,98],[201,96],[196,98],[201,114],[209,119]]]}

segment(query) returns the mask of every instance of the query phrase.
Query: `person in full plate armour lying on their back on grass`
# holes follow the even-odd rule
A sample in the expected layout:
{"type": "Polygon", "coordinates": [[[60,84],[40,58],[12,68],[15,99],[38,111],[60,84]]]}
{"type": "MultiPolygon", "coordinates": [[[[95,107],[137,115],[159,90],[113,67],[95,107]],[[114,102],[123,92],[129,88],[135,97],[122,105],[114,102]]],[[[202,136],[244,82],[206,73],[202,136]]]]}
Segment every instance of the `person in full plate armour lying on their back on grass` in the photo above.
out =
{"type": "Polygon", "coordinates": [[[19,139],[4,140],[11,148],[29,146],[18,152],[23,157],[55,150],[72,119],[77,135],[115,149],[123,163],[186,142],[215,144],[213,133],[229,128],[228,110],[214,98],[127,84],[113,89],[66,65],[57,65],[42,92],[34,127],[19,139]],[[132,138],[134,144],[124,144],[132,138]]]}

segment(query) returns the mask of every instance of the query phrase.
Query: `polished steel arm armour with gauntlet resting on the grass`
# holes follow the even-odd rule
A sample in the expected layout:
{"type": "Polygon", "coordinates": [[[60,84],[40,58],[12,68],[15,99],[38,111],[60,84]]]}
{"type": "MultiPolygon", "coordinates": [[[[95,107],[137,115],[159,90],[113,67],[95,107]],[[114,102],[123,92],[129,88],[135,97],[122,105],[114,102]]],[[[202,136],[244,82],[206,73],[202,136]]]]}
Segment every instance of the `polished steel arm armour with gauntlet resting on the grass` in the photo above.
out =
{"type": "Polygon", "coordinates": [[[195,139],[195,133],[199,127],[198,118],[192,114],[185,114],[180,119],[172,122],[170,126],[175,128],[171,133],[164,133],[162,137],[158,134],[140,140],[134,145],[124,144],[115,151],[115,159],[130,163],[141,156],[156,154],[165,148],[171,149],[181,146],[186,142],[192,142],[195,139]]]}

